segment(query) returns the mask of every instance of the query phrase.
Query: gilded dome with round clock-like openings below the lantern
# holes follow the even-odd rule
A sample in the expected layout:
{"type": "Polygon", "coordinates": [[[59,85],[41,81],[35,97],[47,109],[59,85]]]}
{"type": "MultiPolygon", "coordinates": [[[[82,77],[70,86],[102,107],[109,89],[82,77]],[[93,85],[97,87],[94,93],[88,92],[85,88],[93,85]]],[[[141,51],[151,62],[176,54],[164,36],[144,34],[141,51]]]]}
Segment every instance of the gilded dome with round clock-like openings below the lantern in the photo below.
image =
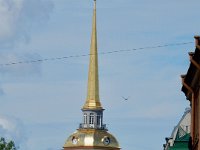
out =
{"type": "Polygon", "coordinates": [[[78,129],[69,136],[64,149],[120,149],[116,138],[106,130],[78,129]]]}

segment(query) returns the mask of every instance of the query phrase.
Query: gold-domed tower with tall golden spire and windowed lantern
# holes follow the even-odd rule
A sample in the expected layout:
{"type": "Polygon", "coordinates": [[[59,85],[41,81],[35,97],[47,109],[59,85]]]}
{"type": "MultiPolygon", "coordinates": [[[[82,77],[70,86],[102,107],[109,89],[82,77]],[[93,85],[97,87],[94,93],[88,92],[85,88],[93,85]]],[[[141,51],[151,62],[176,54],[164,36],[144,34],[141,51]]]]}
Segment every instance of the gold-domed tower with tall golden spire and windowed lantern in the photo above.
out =
{"type": "Polygon", "coordinates": [[[96,0],[94,0],[87,99],[82,108],[83,122],[65,142],[64,150],[120,150],[116,138],[103,123],[103,107],[99,99],[96,0]]]}

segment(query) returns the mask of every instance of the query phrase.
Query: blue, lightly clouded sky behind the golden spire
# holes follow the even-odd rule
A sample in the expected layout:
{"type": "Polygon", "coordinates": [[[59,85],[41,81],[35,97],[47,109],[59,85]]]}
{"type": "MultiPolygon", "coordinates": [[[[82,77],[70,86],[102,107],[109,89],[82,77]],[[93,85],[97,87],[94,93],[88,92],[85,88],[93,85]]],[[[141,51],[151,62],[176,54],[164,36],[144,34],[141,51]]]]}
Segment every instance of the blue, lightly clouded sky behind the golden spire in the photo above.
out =
{"type": "MultiPolygon", "coordinates": [[[[200,33],[200,1],[97,0],[104,123],[124,150],[160,150],[189,102],[181,74],[200,33]],[[128,97],[124,101],[122,97],[128,97]]],[[[59,150],[82,122],[92,0],[0,0],[0,136],[19,150],[59,150]]]]}

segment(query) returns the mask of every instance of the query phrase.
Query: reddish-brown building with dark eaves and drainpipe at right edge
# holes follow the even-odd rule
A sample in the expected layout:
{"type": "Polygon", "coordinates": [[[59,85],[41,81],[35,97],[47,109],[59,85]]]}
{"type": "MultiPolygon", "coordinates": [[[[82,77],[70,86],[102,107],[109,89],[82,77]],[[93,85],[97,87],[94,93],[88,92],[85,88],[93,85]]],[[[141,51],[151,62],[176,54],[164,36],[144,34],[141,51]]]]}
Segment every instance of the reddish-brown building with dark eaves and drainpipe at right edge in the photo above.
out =
{"type": "Polygon", "coordinates": [[[190,66],[182,75],[182,91],[191,106],[191,149],[200,150],[200,36],[195,36],[195,52],[190,52],[190,66]]]}

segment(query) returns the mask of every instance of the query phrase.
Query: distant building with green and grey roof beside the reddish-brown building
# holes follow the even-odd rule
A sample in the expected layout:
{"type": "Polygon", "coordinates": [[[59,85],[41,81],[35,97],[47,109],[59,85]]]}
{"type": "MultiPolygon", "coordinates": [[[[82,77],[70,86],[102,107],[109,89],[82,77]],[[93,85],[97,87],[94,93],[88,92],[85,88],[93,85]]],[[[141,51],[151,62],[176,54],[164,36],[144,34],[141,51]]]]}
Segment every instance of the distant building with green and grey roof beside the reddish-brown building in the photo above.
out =
{"type": "Polygon", "coordinates": [[[175,126],[170,137],[165,138],[164,150],[190,150],[191,109],[186,109],[184,115],[175,126]]]}

